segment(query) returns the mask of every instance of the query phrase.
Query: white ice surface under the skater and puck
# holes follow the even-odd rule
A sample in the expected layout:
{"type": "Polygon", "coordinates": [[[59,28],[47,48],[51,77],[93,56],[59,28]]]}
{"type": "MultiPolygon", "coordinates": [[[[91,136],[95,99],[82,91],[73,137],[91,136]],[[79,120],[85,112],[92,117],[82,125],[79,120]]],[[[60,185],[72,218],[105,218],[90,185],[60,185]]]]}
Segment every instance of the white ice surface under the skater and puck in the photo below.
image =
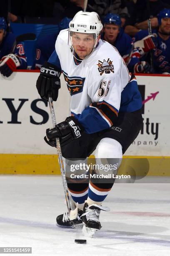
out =
{"type": "Polygon", "coordinates": [[[170,255],[169,183],[114,184],[103,206],[110,212],[100,214],[102,229],[76,244],[82,225],[56,226],[66,210],[61,177],[1,175],[0,247],[32,247],[41,256],[170,255]]]}

